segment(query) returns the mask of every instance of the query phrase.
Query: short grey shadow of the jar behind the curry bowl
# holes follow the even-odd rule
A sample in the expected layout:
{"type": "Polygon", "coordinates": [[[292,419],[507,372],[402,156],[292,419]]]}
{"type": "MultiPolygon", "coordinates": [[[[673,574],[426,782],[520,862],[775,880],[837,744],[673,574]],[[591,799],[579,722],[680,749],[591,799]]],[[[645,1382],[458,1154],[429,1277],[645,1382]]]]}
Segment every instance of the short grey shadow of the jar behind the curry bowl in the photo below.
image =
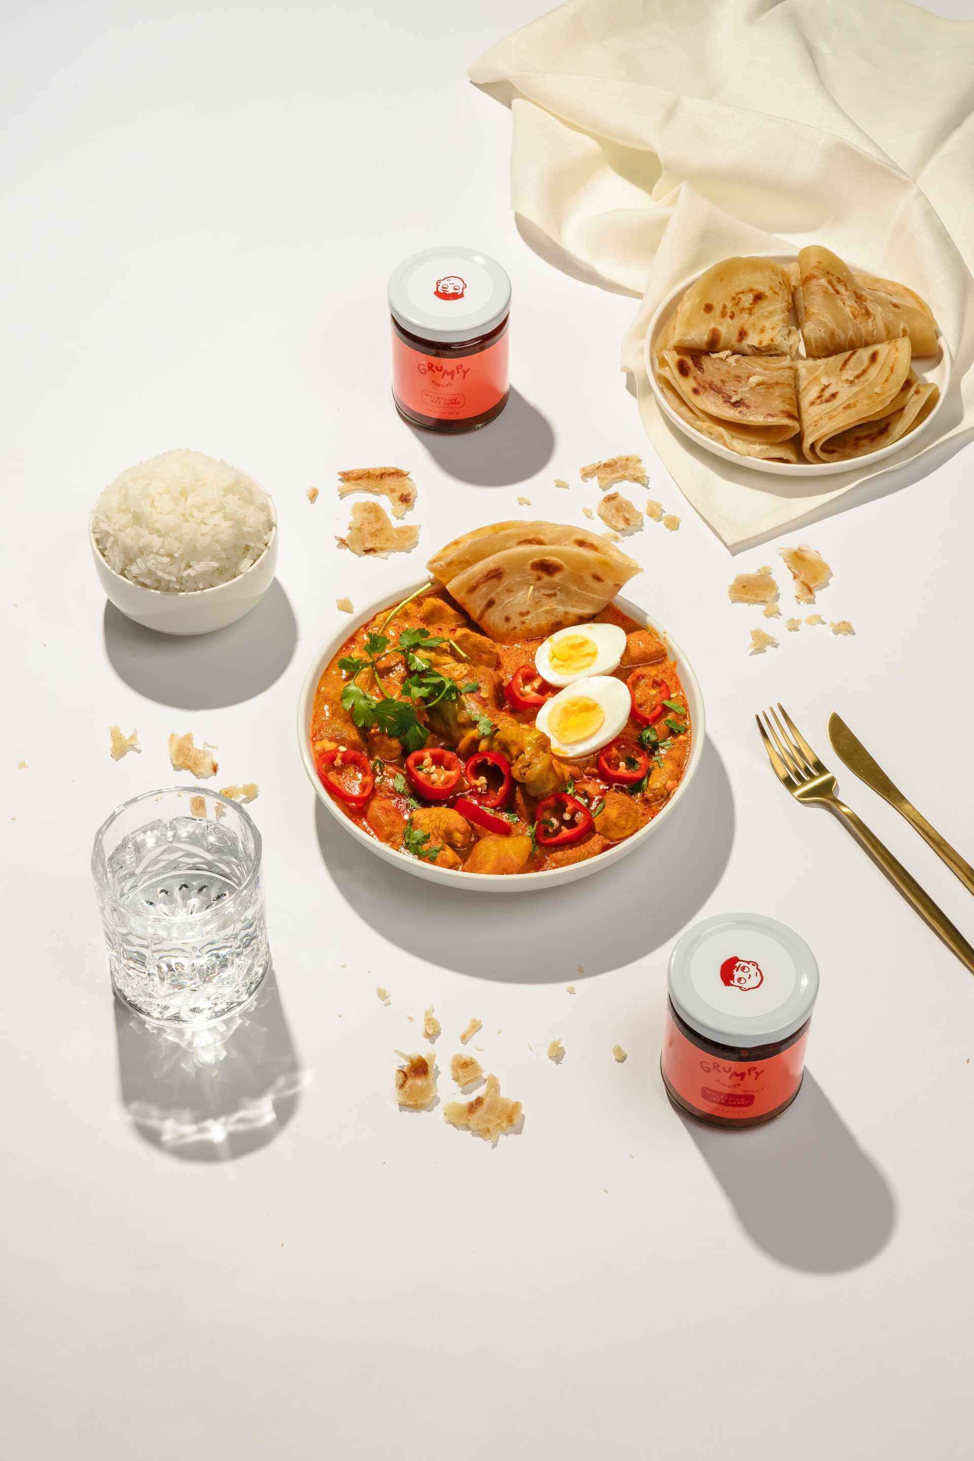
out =
{"type": "Polygon", "coordinates": [[[442,437],[418,427],[410,430],[444,472],[473,487],[527,482],[551,462],[555,451],[551,422],[514,387],[496,421],[479,431],[442,437]],[[472,435],[476,437],[476,450],[470,449],[472,435]]]}

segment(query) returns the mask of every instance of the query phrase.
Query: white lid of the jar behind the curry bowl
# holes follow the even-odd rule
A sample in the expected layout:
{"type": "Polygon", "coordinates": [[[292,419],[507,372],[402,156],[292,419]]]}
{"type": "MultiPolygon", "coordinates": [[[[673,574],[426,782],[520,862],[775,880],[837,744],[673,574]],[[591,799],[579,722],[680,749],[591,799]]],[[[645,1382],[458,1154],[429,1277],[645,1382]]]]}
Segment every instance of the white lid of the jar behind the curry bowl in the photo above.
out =
{"type": "Polygon", "coordinates": [[[511,281],[476,248],[426,248],[388,281],[388,308],[404,330],[444,345],[496,329],[511,307],[511,281]]]}

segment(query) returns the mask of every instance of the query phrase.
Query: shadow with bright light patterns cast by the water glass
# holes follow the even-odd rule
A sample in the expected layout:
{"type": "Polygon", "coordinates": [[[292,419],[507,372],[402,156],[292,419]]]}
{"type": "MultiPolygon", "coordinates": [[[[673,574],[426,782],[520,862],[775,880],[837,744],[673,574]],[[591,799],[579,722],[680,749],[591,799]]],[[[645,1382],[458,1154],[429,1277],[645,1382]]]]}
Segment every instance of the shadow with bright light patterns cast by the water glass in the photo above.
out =
{"type": "Polygon", "coordinates": [[[131,1124],[184,1161],[232,1161],[266,1147],[308,1084],[273,969],[244,1010],[197,1030],[152,1024],[115,999],[115,1039],[131,1124]]]}

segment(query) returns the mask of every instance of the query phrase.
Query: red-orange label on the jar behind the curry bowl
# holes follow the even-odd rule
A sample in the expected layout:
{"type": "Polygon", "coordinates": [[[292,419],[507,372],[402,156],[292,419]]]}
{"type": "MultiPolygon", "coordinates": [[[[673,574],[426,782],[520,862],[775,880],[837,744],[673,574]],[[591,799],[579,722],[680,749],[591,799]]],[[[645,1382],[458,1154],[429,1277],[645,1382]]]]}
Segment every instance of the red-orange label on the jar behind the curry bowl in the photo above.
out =
{"type": "Polygon", "coordinates": [[[393,330],[393,393],[407,411],[437,421],[480,416],[507,394],[508,336],[476,355],[423,355],[393,330]]]}

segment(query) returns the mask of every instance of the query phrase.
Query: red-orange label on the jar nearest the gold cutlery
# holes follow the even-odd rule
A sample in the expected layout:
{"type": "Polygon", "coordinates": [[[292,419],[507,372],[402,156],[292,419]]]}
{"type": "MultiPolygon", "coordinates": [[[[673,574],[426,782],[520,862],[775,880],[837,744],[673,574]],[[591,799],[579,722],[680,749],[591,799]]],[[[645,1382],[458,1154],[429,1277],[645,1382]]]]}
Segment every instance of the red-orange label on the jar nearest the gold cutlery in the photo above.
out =
{"type": "Polygon", "coordinates": [[[721,1061],[701,1050],[666,1012],[663,1074],[694,1110],[720,1121],[749,1121],[784,1106],[802,1084],[808,1030],[767,1061],[721,1061]]]}

